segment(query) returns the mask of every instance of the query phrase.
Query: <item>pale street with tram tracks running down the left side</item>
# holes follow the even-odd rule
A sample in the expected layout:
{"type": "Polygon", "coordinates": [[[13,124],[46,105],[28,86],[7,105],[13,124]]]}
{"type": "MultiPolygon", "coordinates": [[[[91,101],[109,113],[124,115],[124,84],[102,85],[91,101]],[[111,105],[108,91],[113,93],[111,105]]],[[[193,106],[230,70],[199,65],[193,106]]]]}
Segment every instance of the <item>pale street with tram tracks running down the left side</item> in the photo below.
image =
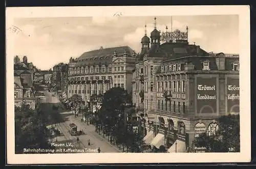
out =
{"type": "MultiPolygon", "coordinates": [[[[58,100],[58,96],[53,94],[52,92],[42,91],[45,94],[45,97],[42,98],[42,103],[48,104],[59,104],[61,107],[61,103],[58,100]]],[[[61,109],[61,108],[59,108],[61,109]]],[[[44,111],[44,110],[43,110],[44,111]]],[[[58,110],[61,111],[61,110],[58,110]]],[[[81,122],[81,115],[75,118],[74,114],[71,111],[63,111],[59,112],[65,122],[56,123],[56,128],[60,130],[63,134],[62,136],[57,136],[53,139],[54,143],[73,143],[73,147],[76,149],[98,149],[100,148],[101,153],[115,153],[121,152],[119,149],[111,145],[109,142],[105,140],[101,135],[95,132],[95,126],[87,125],[84,122],[81,122]],[[69,133],[70,123],[75,123],[77,125],[77,130],[83,130],[85,134],[79,136],[72,136],[69,133]],[[79,143],[77,143],[77,137],[79,138],[79,143]],[[88,146],[88,140],[90,139],[91,145],[88,146]],[[57,140],[57,141],[56,141],[57,140]]]]}

